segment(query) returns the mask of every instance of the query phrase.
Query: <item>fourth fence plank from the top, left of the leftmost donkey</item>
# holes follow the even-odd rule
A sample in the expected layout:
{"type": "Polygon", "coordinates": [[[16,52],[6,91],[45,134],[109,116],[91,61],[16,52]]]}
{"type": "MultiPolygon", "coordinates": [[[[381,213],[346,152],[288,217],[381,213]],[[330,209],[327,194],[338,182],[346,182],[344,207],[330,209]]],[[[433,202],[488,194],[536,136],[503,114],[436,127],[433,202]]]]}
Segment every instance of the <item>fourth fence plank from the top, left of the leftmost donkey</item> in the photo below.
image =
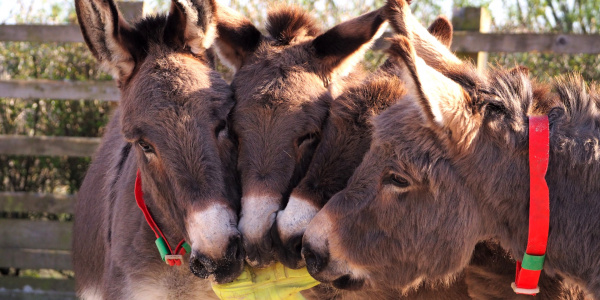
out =
{"type": "Polygon", "coordinates": [[[73,213],[75,195],[0,192],[0,211],[73,213]]]}

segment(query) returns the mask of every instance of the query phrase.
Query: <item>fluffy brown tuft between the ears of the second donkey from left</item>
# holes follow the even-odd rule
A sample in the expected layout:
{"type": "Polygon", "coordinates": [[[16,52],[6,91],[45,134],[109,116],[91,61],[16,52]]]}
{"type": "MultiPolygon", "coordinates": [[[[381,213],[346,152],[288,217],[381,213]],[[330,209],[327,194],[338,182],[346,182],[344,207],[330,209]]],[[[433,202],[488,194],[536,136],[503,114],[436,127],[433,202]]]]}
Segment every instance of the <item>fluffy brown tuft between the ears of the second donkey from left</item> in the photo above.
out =
{"type": "Polygon", "coordinates": [[[296,38],[315,37],[321,33],[317,21],[297,6],[279,6],[269,11],[266,28],[281,45],[289,45],[296,38]]]}

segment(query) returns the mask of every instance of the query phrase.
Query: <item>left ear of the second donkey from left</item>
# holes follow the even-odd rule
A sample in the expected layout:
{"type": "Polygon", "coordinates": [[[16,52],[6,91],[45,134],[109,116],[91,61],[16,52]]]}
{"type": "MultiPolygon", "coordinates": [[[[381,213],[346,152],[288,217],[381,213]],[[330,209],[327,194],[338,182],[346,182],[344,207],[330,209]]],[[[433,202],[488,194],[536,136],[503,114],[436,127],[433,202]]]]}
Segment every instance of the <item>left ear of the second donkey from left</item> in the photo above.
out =
{"type": "Polygon", "coordinates": [[[258,48],[263,35],[250,20],[229,7],[219,5],[217,14],[217,54],[221,61],[237,71],[258,48]]]}

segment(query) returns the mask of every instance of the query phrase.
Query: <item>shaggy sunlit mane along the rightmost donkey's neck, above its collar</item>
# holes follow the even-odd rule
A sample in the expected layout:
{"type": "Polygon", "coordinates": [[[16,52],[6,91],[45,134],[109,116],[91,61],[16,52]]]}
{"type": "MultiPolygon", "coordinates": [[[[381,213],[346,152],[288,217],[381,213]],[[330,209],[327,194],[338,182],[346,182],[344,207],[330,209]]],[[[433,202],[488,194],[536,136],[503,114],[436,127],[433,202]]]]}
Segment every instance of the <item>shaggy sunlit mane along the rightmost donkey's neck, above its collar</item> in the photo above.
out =
{"type": "Polygon", "coordinates": [[[531,81],[523,72],[493,70],[490,90],[501,100],[513,128],[526,128],[528,115],[548,115],[551,147],[571,166],[600,163],[600,97],[580,74],[563,75],[549,84],[531,81]]]}

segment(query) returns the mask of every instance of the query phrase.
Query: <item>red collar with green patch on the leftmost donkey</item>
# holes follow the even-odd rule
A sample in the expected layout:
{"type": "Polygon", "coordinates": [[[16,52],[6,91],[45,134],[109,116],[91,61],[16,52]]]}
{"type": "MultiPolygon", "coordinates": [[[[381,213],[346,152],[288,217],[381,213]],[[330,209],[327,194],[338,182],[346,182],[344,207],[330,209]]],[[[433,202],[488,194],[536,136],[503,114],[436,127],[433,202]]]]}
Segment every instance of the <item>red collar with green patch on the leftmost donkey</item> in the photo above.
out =
{"type": "Polygon", "coordinates": [[[154,222],[152,215],[150,215],[150,212],[148,211],[148,207],[144,201],[144,192],[142,191],[142,177],[140,176],[140,170],[137,171],[135,177],[135,202],[144,213],[146,222],[148,222],[148,225],[150,225],[150,228],[152,228],[152,231],[154,231],[154,235],[156,236],[155,244],[162,260],[169,266],[181,266],[183,255],[191,252],[190,245],[185,242],[185,239],[183,239],[175,248],[175,252],[173,252],[171,245],[169,245],[169,242],[167,242],[167,239],[165,238],[165,235],[162,233],[160,228],[158,228],[158,225],[156,225],[156,222],[154,222]]]}

